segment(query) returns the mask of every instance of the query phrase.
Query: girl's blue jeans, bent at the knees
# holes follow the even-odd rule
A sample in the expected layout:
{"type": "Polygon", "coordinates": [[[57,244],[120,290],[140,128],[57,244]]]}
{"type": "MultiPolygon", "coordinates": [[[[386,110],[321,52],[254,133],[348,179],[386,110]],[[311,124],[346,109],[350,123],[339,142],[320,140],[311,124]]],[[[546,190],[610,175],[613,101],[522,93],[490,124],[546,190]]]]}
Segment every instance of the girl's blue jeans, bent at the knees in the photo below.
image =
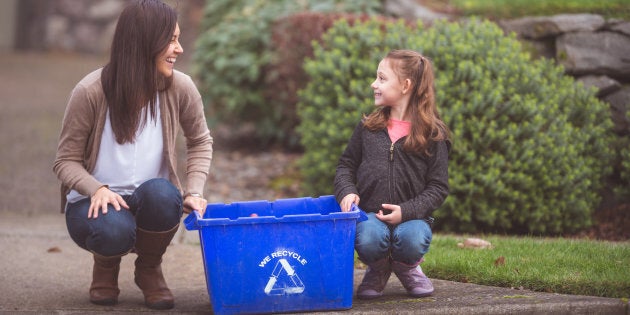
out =
{"type": "Polygon", "coordinates": [[[390,226],[374,213],[357,224],[354,248],[366,265],[388,258],[406,265],[417,264],[429,251],[433,237],[431,227],[424,220],[411,220],[390,226]]]}

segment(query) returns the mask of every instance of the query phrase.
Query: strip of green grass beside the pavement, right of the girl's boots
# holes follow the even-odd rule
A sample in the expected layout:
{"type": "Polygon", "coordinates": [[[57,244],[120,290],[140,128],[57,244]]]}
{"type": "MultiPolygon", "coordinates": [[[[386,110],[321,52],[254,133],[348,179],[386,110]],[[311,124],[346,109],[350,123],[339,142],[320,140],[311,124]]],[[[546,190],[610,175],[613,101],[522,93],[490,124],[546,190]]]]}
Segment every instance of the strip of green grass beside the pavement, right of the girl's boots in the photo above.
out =
{"type": "Polygon", "coordinates": [[[488,236],[491,249],[459,248],[436,234],[422,268],[430,278],[534,291],[630,297],[630,242],[488,236]],[[504,257],[504,264],[495,264],[504,257]]]}

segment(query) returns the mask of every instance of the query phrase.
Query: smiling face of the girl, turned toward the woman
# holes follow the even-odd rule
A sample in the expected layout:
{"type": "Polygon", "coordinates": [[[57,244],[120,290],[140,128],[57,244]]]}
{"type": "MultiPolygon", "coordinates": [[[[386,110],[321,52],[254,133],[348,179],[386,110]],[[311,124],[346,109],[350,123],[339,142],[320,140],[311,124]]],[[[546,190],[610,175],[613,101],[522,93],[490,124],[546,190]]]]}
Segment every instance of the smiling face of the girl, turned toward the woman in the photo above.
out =
{"type": "Polygon", "coordinates": [[[376,80],[372,82],[374,90],[374,105],[376,106],[405,106],[404,82],[398,80],[398,76],[391,67],[388,59],[383,59],[376,70],[376,80]]]}

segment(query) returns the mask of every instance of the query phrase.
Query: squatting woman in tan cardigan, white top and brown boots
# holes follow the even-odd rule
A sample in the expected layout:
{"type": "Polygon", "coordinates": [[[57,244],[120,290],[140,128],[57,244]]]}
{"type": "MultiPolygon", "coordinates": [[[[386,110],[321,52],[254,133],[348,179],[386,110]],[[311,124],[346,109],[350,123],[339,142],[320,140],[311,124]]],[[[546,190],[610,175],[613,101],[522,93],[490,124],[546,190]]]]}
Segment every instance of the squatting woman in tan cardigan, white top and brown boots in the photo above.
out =
{"type": "Polygon", "coordinates": [[[90,301],[118,302],[121,257],[152,309],[174,307],[162,255],[182,212],[203,212],[212,137],[191,78],[173,69],[183,53],[175,10],[136,1],[121,13],[107,65],[74,88],[53,170],[74,242],[94,257],[90,301]],[[186,138],[185,190],[176,173],[179,126],[186,138]],[[182,192],[184,195],[182,197],[182,192]]]}

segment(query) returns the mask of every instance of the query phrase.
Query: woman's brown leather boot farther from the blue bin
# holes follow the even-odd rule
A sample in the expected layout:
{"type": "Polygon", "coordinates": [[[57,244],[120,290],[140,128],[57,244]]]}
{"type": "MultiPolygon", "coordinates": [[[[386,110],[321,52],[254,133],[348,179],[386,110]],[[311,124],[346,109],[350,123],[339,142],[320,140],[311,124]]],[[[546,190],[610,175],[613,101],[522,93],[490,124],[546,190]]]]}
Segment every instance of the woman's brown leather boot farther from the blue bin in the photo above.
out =
{"type": "Polygon", "coordinates": [[[98,305],[118,303],[118,272],[122,256],[105,257],[94,254],[90,302],[98,305]]]}

